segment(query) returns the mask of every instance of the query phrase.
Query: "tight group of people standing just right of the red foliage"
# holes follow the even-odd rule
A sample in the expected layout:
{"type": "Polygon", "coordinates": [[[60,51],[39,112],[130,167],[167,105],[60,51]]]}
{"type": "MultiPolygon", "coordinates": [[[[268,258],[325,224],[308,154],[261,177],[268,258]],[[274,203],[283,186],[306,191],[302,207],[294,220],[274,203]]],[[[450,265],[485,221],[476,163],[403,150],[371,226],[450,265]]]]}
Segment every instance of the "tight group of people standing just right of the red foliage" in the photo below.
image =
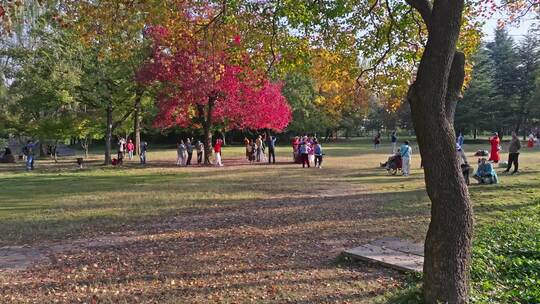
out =
{"type": "Polygon", "coordinates": [[[311,167],[322,168],[323,149],[321,143],[315,136],[304,135],[295,136],[292,140],[293,160],[295,163],[301,163],[302,168],[311,167]]]}

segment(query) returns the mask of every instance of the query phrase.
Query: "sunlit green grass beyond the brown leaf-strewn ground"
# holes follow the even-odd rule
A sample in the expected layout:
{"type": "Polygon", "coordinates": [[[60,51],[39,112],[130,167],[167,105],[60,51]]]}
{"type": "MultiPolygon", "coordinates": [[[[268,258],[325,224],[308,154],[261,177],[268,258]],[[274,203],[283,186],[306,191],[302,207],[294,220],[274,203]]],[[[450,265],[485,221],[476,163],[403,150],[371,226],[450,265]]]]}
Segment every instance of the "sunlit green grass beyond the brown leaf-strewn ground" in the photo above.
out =
{"type": "MultiPolygon", "coordinates": [[[[386,158],[389,148],[383,146],[375,151],[368,142],[326,144],[325,168],[309,173],[296,165],[176,168],[174,150],[151,150],[147,168],[141,168],[136,161],[124,168],[101,167],[100,155],[92,155],[90,168],[81,171],[71,159],[59,165],[38,161],[38,169],[32,173],[24,173],[22,164],[2,165],[0,229],[4,233],[0,243],[75,236],[174,215],[189,208],[274,198],[295,191],[308,195],[310,191],[332,188],[384,197],[383,212],[426,215],[429,201],[418,168],[419,157],[413,156],[410,178],[387,176],[377,165],[386,158]]],[[[289,154],[288,147],[278,149],[282,162],[289,160],[289,154]]],[[[242,155],[242,147],[226,148],[225,164],[229,158],[242,155]]],[[[478,223],[526,208],[540,197],[540,165],[533,160],[538,155],[536,151],[523,153],[523,174],[519,176],[502,176],[499,185],[470,187],[478,223]]]]}

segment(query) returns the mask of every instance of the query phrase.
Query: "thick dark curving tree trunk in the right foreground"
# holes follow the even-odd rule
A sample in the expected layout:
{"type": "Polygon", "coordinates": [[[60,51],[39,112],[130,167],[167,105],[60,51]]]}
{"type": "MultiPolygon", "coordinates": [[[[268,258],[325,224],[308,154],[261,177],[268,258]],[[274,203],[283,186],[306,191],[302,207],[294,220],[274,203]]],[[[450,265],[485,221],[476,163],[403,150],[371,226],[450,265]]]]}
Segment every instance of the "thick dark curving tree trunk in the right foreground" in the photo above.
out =
{"type": "Polygon", "coordinates": [[[409,89],[412,118],[431,200],[425,241],[425,303],[468,303],[472,207],[456,157],[453,115],[463,85],[464,56],[456,53],[463,0],[408,0],[428,25],[429,38],[409,89]]]}

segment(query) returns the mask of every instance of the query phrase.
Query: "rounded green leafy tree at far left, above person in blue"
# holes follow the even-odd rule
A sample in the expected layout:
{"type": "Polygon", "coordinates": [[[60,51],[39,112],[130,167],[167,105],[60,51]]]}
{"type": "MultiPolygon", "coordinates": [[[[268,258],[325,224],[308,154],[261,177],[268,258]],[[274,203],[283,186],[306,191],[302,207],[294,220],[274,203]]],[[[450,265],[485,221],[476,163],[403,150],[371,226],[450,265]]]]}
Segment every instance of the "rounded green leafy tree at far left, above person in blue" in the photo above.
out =
{"type": "Polygon", "coordinates": [[[55,29],[34,35],[40,36],[37,46],[13,50],[18,69],[9,87],[9,124],[18,135],[57,143],[73,136],[80,69],[69,35],[55,29]]]}

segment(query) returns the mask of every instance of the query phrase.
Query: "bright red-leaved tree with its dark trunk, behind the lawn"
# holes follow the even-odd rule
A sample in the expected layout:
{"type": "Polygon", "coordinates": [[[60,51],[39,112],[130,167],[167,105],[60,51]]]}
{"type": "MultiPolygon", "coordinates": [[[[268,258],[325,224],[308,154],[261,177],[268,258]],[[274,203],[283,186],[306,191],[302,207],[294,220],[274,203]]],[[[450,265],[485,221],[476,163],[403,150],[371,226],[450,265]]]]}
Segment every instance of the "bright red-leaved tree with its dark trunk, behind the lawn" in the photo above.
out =
{"type": "Polygon", "coordinates": [[[225,47],[199,40],[189,32],[172,34],[152,26],[152,56],[138,73],[138,81],[156,85],[159,113],[154,126],[202,128],[205,164],[210,163],[214,125],[228,129],[271,129],[280,132],[291,120],[282,85],[266,79],[250,66],[238,36],[225,47]]]}

